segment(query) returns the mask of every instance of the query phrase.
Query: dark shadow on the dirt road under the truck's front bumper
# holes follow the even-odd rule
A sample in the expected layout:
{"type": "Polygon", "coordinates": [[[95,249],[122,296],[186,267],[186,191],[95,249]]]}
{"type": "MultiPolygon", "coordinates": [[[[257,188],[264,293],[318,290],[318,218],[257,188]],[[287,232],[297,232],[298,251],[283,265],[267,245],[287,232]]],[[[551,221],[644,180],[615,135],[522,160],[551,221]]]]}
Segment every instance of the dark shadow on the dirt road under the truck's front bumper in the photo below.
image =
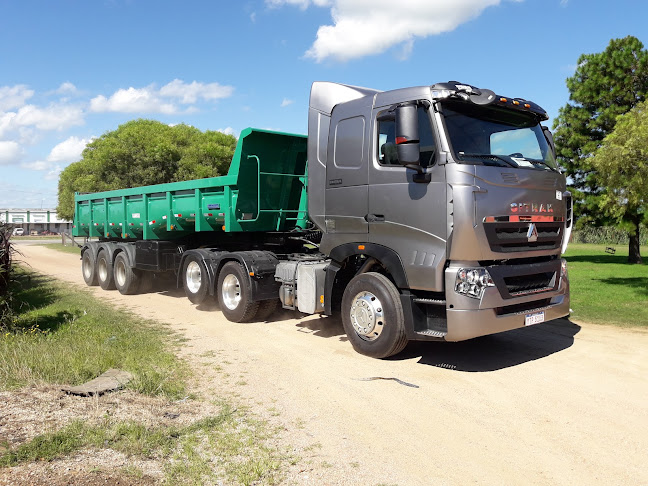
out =
{"type": "Polygon", "coordinates": [[[581,327],[568,319],[461,341],[410,342],[391,360],[419,358],[419,363],[453,371],[496,371],[545,358],[574,344],[581,327]]]}

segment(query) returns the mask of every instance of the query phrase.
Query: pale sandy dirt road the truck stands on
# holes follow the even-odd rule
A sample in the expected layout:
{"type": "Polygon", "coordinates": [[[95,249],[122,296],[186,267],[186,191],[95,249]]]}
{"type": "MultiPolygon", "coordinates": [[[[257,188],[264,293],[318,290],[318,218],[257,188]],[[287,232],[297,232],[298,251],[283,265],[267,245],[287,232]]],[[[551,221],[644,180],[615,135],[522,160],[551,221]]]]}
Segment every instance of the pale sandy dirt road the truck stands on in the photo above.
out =
{"type": "MultiPolygon", "coordinates": [[[[20,250],[35,271],[85,287],[78,257],[20,250]]],[[[332,318],[234,324],[176,290],[93,292],[170,323],[187,356],[211,357],[206,387],[276,411],[291,440],[312,443],[316,464],[297,483],[648,484],[646,332],[561,320],[410,343],[381,361],[356,354],[332,318]]]]}

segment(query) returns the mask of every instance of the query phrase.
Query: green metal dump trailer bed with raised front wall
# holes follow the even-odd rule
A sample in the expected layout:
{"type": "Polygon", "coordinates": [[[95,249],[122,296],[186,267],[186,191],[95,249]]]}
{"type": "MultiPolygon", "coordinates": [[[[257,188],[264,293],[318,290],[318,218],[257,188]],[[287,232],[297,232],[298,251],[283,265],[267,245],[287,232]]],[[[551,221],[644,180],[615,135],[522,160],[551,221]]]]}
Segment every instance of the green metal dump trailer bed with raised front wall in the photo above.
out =
{"type": "Polygon", "coordinates": [[[225,176],[76,194],[74,236],[176,239],[308,223],[306,136],[247,128],[225,176]]]}

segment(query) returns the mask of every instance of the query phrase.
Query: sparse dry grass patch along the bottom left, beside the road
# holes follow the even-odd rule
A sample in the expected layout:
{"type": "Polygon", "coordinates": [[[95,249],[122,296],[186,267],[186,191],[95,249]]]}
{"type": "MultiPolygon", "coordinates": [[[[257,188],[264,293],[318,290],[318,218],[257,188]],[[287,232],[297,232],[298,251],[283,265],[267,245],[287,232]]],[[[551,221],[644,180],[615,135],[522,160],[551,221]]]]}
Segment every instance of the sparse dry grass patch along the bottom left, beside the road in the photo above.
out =
{"type": "Polygon", "coordinates": [[[193,424],[146,426],[134,421],[89,425],[76,420],[0,453],[0,467],[51,461],[84,448],[109,448],[129,457],[164,458],[169,484],[276,484],[294,458],[265,445],[274,431],[266,422],[223,404],[218,415],[193,424]]]}

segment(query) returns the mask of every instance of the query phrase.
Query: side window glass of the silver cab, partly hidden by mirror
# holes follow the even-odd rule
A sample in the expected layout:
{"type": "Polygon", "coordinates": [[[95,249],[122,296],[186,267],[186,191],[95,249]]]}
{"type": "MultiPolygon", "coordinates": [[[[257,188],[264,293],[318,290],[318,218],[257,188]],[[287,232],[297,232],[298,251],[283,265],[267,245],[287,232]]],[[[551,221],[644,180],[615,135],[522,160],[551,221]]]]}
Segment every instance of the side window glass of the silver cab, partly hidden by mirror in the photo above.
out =
{"type": "MultiPolygon", "coordinates": [[[[378,114],[382,115],[384,112],[378,114]]],[[[429,112],[420,106],[417,110],[419,122],[419,139],[421,167],[434,165],[436,143],[434,132],[430,123],[429,112]]],[[[378,122],[378,161],[381,165],[398,166],[398,154],[396,152],[396,122],[393,120],[378,122]]]]}

